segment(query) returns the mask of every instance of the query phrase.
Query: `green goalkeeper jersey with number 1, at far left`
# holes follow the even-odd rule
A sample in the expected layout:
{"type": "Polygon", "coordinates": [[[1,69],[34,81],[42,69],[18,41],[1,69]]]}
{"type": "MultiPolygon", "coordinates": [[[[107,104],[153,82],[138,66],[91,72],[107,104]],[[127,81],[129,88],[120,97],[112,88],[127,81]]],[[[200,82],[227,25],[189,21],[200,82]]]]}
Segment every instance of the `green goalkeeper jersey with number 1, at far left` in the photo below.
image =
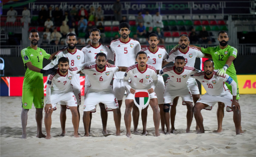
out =
{"type": "Polygon", "coordinates": [[[51,55],[39,47],[34,50],[29,46],[21,50],[21,56],[26,70],[23,88],[43,88],[43,74],[30,70],[26,63],[31,62],[33,66],[42,69],[43,58],[48,60],[51,55]]]}

